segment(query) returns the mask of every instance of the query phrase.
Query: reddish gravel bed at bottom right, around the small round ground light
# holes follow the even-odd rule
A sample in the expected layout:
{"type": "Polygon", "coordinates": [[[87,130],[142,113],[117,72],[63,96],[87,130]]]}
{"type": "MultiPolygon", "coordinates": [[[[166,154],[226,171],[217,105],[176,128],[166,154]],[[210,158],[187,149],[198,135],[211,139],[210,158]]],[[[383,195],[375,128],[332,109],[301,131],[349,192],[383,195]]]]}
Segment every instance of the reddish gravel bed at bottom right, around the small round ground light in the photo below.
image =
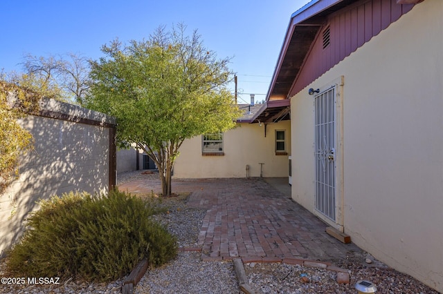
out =
{"type": "MultiPolygon", "coordinates": [[[[350,266],[350,284],[338,284],[336,273],[320,268],[289,264],[244,264],[248,282],[262,293],[352,293],[359,280],[368,280],[377,286],[377,294],[435,293],[431,288],[389,268],[359,268],[350,266]],[[307,277],[307,282],[302,280],[307,277]]],[[[305,280],[306,281],[306,280],[305,280]]]]}

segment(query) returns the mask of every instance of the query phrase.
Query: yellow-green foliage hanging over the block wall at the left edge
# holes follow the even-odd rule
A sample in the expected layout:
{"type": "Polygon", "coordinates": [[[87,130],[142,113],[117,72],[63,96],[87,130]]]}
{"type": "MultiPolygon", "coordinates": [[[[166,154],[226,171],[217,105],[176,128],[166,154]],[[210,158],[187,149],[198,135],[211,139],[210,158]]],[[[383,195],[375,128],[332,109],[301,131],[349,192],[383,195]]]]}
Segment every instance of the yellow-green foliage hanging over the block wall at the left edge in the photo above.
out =
{"type": "Polygon", "coordinates": [[[41,95],[0,81],[0,195],[18,174],[19,155],[30,150],[33,137],[17,119],[38,109],[41,95]]]}

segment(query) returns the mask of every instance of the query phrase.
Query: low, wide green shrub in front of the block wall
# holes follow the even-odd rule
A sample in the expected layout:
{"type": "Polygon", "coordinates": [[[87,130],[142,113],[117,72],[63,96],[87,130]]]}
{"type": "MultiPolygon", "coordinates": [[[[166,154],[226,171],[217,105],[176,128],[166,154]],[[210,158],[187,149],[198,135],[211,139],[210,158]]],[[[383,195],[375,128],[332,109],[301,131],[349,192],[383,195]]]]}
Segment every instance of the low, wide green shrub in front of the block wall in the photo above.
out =
{"type": "Polygon", "coordinates": [[[39,204],[8,254],[11,273],[105,282],[126,275],[143,257],[159,266],[177,254],[176,238],[151,218],[163,211],[153,199],[114,190],[108,196],[69,193],[39,204]]]}

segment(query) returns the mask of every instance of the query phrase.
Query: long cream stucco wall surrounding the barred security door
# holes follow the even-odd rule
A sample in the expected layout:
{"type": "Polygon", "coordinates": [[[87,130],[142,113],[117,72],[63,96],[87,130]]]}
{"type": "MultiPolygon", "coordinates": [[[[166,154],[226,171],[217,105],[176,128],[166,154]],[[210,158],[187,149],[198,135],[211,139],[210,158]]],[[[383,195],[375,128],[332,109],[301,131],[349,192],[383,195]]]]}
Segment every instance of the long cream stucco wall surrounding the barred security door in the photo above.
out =
{"type": "MultiPolygon", "coordinates": [[[[344,230],[443,292],[443,1],[426,0],[307,88],[344,76],[344,230]]],[[[291,99],[292,197],[314,212],[314,109],[291,99]]]]}

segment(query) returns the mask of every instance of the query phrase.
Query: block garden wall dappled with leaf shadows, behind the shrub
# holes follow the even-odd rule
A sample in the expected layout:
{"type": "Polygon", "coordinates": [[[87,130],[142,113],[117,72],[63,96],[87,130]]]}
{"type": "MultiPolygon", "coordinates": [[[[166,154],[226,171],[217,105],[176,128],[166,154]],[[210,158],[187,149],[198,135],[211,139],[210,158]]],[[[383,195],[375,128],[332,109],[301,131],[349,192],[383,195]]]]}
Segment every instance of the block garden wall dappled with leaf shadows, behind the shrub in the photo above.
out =
{"type": "MultiPolygon", "coordinates": [[[[44,101],[42,108],[114,122],[98,112],[53,100],[44,101]]],[[[20,160],[19,179],[0,195],[0,255],[17,242],[24,219],[38,208],[38,199],[71,190],[95,193],[109,186],[109,128],[32,115],[20,124],[30,131],[35,144],[20,160]]]]}

